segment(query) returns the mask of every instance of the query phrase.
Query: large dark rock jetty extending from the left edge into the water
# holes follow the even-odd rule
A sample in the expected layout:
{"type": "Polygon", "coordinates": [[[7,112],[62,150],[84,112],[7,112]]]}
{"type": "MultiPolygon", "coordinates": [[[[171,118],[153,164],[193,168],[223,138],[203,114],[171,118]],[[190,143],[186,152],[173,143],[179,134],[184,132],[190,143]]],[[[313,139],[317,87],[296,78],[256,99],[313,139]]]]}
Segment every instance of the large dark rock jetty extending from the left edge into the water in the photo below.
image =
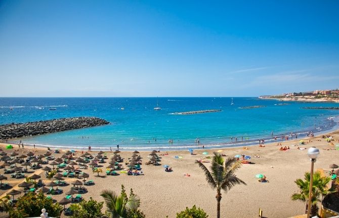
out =
{"type": "Polygon", "coordinates": [[[65,130],[107,125],[109,122],[96,117],[61,118],[28,123],[0,125],[0,139],[41,135],[65,130]]]}

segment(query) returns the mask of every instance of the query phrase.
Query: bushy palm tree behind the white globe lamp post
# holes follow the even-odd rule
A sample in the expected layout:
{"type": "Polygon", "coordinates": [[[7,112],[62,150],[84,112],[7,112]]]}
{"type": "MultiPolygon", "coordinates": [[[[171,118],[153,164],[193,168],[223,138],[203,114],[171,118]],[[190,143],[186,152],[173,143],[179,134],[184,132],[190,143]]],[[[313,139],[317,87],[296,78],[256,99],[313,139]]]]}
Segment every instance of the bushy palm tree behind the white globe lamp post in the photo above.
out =
{"type": "MultiPolygon", "coordinates": [[[[309,172],[305,172],[305,177],[303,179],[298,178],[294,181],[294,183],[299,187],[300,191],[298,193],[294,193],[291,196],[291,199],[293,201],[299,200],[304,203],[306,203],[306,210],[305,213],[307,213],[307,203],[309,200],[309,191],[310,191],[310,178],[311,174],[309,172]]],[[[328,176],[321,176],[319,171],[316,171],[313,173],[313,185],[312,185],[312,197],[311,197],[311,216],[315,216],[318,211],[318,202],[322,201],[322,198],[320,200],[320,195],[323,197],[324,195],[327,195],[329,193],[333,193],[332,188],[327,188],[327,184],[330,182],[331,178],[328,176]]]]}

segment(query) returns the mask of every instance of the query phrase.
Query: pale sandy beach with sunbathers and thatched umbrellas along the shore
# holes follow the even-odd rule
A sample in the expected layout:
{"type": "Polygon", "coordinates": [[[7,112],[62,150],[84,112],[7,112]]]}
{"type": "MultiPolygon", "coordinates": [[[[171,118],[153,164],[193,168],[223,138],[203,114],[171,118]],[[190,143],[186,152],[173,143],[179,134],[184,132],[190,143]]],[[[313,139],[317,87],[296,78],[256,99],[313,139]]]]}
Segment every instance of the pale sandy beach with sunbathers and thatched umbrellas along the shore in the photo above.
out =
{"type": "MultiPolygon", "coordinates": [[[[339,143],[339,131],[329,133],[333,136],[334,144],[339,143]]],[[[287,151],[280,151],[280,146],[277,143],[266,144],[266,147],[250,146],[248,150],[240,148],[222,149],[223,154],[235,156],[237,154],[244,154],[251,156],[250,161],[255,164],[243,164],[236,173],[239,178],[247,183],[247,186],[237,185],[232,188],[227,194],[222,195],[221,200],[221,217],[257,217],[259,208],[262,208],[265,217],[290,217],[293,215],[303,214],[305,205],[301,202],[295,202],[290,199],[290,196],[298,191],[294,184],[296,178],[303,178],[304,173],[310,170],[310,161],[307,156],[307,149],[314,146],[320,149],[320,156],[315,163],[315,169],[330,170],[328,165],[338,164],[339,151],[333,150],[334,146],[326,142],[321,136],[304,139],[307,144],[300,146],[299,140],[288,140],[282,142],[282,146],[290,147],[287,151]],[[305,150],[298,150],[297,147],[305,148],[305,150]],[[324,150],[328,149],[328,150],[324,150]],[[260,157],[255,157],[259,155],[260,157]],[[267,176],[269,183],[259,183],[255,177],[256,174],[263,173],[267,176]]],[[[18,149],[14,145],[14,149],[6,150],[6,144],[0,145],[2,149],[9,153],[15,150],[20,154],[25,154],[28,151],[35,152],[36,155],[46,153],[47,149],[37,148],[33,150],[32,147],[25,147],[24,150],[18,149]]],[[[89,179],[95,181],[94,186],[88,186],[88,193],[83,194],[84,199],[93,197],[95,200],[102,201],[100,192],[104,189],[110,189],[120,193],[121,184],[125,189],[133,188],[135,194],[141,199],[140,209],[144,211],[146,217],[175,217],[176,213],[184,210],[186,206],[192,207],[194,204],[203,208],[209,214],[209,217],[215,217],[217,212],[217,201],[215,199],[216,191],[211,189],[206,180],[202,170],[195,163],[196,159],[205,158],[213,155],[217,150],[195,150],[197,155],[190,155],[188,151],[169,151],[167,156],[162,157],[160,166],[142,164],[142,171],[144,175],[128,176],[120,173],[117,176],[95,176],[91,168],[82,171],[90,174],[89,179]],[[203,152],[208,152],[208,155],[202,155],[203,152]],[[175,156],[182,158],[176,159],[175,156]],[[162,165],[170,165],[173,172],[165,172],[162,165]],[[190,176],[184,176],[184,174],[190,176]]],[[[96,152],[92,152],[96,154],[96,152]]],[[[166,151],[161,151],[158,154],[164,154],[166,151]]],[[[59,154],[54,154],[55,157],[60,157],[65,151],[59,154]]],[[[150,152],[140,152],[143,158],[143,163],[147,161],[147,156],[150,152]]],[[[76,152],[76,157],[81,153],[76,152]]],[[[113,153],[108,152],[109,158],[113,153]]],[[[121,152],[122,158],[130,158],[132,152],[121,152]]],[[[109,162],[109,159],[106,159],[109,162]]],[[[124,163],[122,163],[124,165],[124,163]]],[[[209,166],[209,163],[205,163],[209,166]]],[[[103,171],[105,171],[108,163],[101,164],[103,171]]],[[[0,169],[4,173],[4,169],[0,169]]],[[[63,171],[61,169],[61,171],[63,171]]],[[[41,178],[44,182],[48,180],[44,171],[40,172],[41,178]]],[[[26,175],[33,174],[33,170],[29,170],[26,175]]],[[[9,174],[5,174],[10,183],[15,189],[22,190],[16,187],[23,179],[10,178],[9,174]]],[[[65,178],[70,181],[75,178],[65,178]]],[[[4,182],[4,181],[3,181],[4,182]]],[[[64,192],[70,190],[72,185],[62,187],[64,192]]],[[[4,196],[8,190],[0,190],[0,195],[4,196]]],[[[22,194],[21,194],[22,195],[22,194]]],[[[53,195],[53,199],[59,201],[65,194],[53,195]]],[[[16,198],[20,195],[15,196],[16,198]]],[[[66,207],[69,206],[66,205],[66,207]]],[[[5,213],[0,213],[3,216],[5,213]]],[[[62,215],[62,217],[66,217],[62,215]]]]}

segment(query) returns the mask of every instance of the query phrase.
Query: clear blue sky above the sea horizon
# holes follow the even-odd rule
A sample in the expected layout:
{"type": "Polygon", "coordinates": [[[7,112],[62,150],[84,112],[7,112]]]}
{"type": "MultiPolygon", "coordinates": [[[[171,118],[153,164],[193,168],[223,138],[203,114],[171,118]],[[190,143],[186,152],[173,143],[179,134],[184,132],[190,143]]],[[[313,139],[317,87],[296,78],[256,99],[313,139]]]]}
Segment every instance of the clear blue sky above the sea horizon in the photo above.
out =
{"type": "Polygon", "coordinates": [[[0,96],[339,88],[338,1],[0,1],[0,96]]]}

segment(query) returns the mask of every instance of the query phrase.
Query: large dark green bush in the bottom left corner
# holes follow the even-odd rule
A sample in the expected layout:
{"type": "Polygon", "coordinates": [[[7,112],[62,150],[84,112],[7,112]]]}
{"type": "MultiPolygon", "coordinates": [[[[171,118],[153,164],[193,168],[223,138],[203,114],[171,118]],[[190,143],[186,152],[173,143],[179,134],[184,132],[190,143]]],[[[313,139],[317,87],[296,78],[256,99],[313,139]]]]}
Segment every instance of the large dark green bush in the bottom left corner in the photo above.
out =
{"type": "Polygon", "coordinates": [[[32,193],[19,197],[16,207],[9,211],[10,217],[34,217],[40,216],[41,209],[45,208],[49,216],[60,217],[62,206],[54,204],[52,199],[47,199],[44,193],[32,193]]]}

